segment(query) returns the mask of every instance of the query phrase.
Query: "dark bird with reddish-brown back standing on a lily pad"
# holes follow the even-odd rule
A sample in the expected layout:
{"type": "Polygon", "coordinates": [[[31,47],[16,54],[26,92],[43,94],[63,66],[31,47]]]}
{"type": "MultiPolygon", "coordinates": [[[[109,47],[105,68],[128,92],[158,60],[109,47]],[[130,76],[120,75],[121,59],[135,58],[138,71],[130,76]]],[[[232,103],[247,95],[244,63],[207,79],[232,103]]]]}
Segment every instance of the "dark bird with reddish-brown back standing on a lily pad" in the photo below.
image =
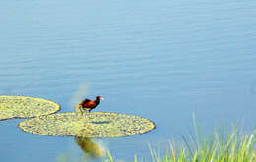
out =
{"type": "Polygon", "coordinates": [[[91,99],[84,99],[80,102],[80,104],[78,105],[79,106],[79,109],[80,111],[83,113],[83,110],[88,110],[89,113],[92,109],[95,109],[96,106],[99,105],[100,103],[100,100],[104,100],[103,97],[101,96],[96,96],[96,100],[91,100],[91,99]]]}

